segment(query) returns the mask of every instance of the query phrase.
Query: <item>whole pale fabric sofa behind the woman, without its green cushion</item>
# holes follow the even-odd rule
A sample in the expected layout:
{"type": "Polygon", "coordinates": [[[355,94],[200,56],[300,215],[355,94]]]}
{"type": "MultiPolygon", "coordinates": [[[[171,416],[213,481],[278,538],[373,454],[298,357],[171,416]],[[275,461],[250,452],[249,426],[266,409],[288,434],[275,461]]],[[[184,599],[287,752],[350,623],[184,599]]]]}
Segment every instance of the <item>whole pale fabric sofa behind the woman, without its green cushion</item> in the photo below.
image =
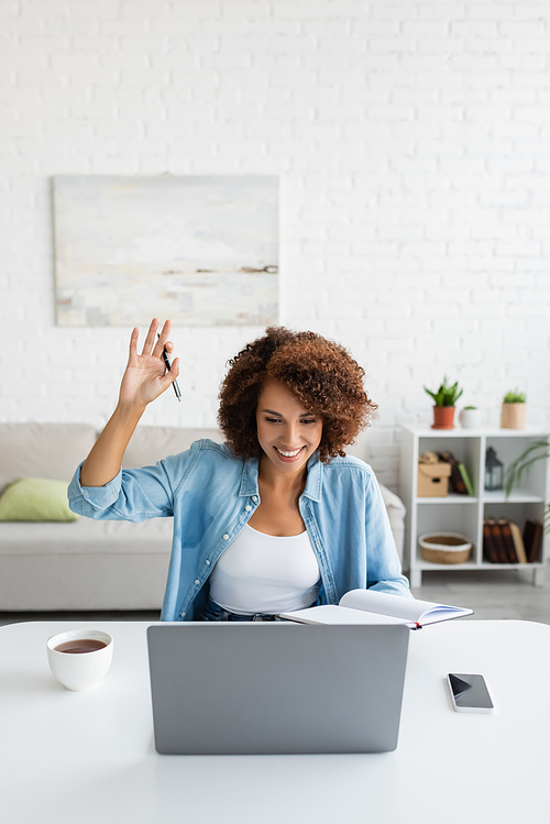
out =
{"type": "MultiPolygon", "coordinates": [[[[97,435],[84,424],[0,424],[0,494],[20,477],[68,483],[97,435]]],[[[123,465],[154,464],[199,438],[221,440],[217,429],[140,426],[123,465]]],[[[382,493],[403,557],[405,507],[382,493]]],[[[0,523],[0,612],[158,609],[170,543],[172,518],[0,523]]]]}

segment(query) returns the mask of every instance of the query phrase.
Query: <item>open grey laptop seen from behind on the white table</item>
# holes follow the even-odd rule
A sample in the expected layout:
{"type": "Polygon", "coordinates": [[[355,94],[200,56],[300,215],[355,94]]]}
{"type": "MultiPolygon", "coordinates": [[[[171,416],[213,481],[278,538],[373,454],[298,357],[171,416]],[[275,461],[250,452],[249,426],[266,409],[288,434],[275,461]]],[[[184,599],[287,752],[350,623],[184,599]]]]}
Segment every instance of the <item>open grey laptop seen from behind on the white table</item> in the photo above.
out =
{"type": "Polygon", "coordinates": [[[397,746],[410,629],[185,622],[147,629],[164,755],[384,752],[397,746]]]}

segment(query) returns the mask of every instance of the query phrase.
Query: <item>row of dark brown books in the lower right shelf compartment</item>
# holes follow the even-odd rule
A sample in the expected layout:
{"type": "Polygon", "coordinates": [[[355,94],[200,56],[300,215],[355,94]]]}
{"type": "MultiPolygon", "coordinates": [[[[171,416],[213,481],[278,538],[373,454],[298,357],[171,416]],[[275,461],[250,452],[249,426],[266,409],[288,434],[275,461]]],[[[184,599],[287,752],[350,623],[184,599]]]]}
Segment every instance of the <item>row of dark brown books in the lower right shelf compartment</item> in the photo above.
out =
{"type": "Polygon", "coordinates": [[[483,554],[490,563],[535,563],[542,543],[542,524],[526,520],[524,531],[509,518],[485,518],[483,554]]]}

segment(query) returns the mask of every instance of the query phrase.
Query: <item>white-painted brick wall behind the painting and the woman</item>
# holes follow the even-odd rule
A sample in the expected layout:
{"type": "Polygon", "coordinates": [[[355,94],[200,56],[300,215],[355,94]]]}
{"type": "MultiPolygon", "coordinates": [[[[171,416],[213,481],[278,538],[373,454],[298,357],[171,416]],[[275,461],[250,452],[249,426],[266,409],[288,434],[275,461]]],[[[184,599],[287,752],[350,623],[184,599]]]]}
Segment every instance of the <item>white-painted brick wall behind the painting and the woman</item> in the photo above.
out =
{"type": "MultiPolygon", "coordinates": [[[[0,0],[0,419],[112,409],[129,329],[54,320],[57,174],[277,174],[280,322],[348,345],[397,483],[398,425],[443,374],[496,424],[550,422],[550,3],[0,0]]],[[[185,404],[211,426],[258,328],[184,329],[185,404]]]]}

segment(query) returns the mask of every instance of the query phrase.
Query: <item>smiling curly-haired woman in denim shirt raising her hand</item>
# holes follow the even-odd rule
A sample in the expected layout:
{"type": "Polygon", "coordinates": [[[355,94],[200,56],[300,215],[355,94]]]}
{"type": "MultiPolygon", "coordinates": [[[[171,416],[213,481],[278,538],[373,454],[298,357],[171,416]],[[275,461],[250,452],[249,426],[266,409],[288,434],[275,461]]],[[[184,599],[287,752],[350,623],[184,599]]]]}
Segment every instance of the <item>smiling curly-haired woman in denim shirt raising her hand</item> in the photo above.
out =
{"type": "Polygon", "coordinates": [[[120,468],[147,404],[179,374],[165,372],[170,321],[139,329],[117,408],[69,486],[74,512],[140,521],[174,517],[162,619],[274,619],[352,589],[410,596],[370,466],[343,447],[376,406],[364,372],[314,332],[267,329],[231,362],[220,392],[227,442],[138,470],[120,468]]]}

